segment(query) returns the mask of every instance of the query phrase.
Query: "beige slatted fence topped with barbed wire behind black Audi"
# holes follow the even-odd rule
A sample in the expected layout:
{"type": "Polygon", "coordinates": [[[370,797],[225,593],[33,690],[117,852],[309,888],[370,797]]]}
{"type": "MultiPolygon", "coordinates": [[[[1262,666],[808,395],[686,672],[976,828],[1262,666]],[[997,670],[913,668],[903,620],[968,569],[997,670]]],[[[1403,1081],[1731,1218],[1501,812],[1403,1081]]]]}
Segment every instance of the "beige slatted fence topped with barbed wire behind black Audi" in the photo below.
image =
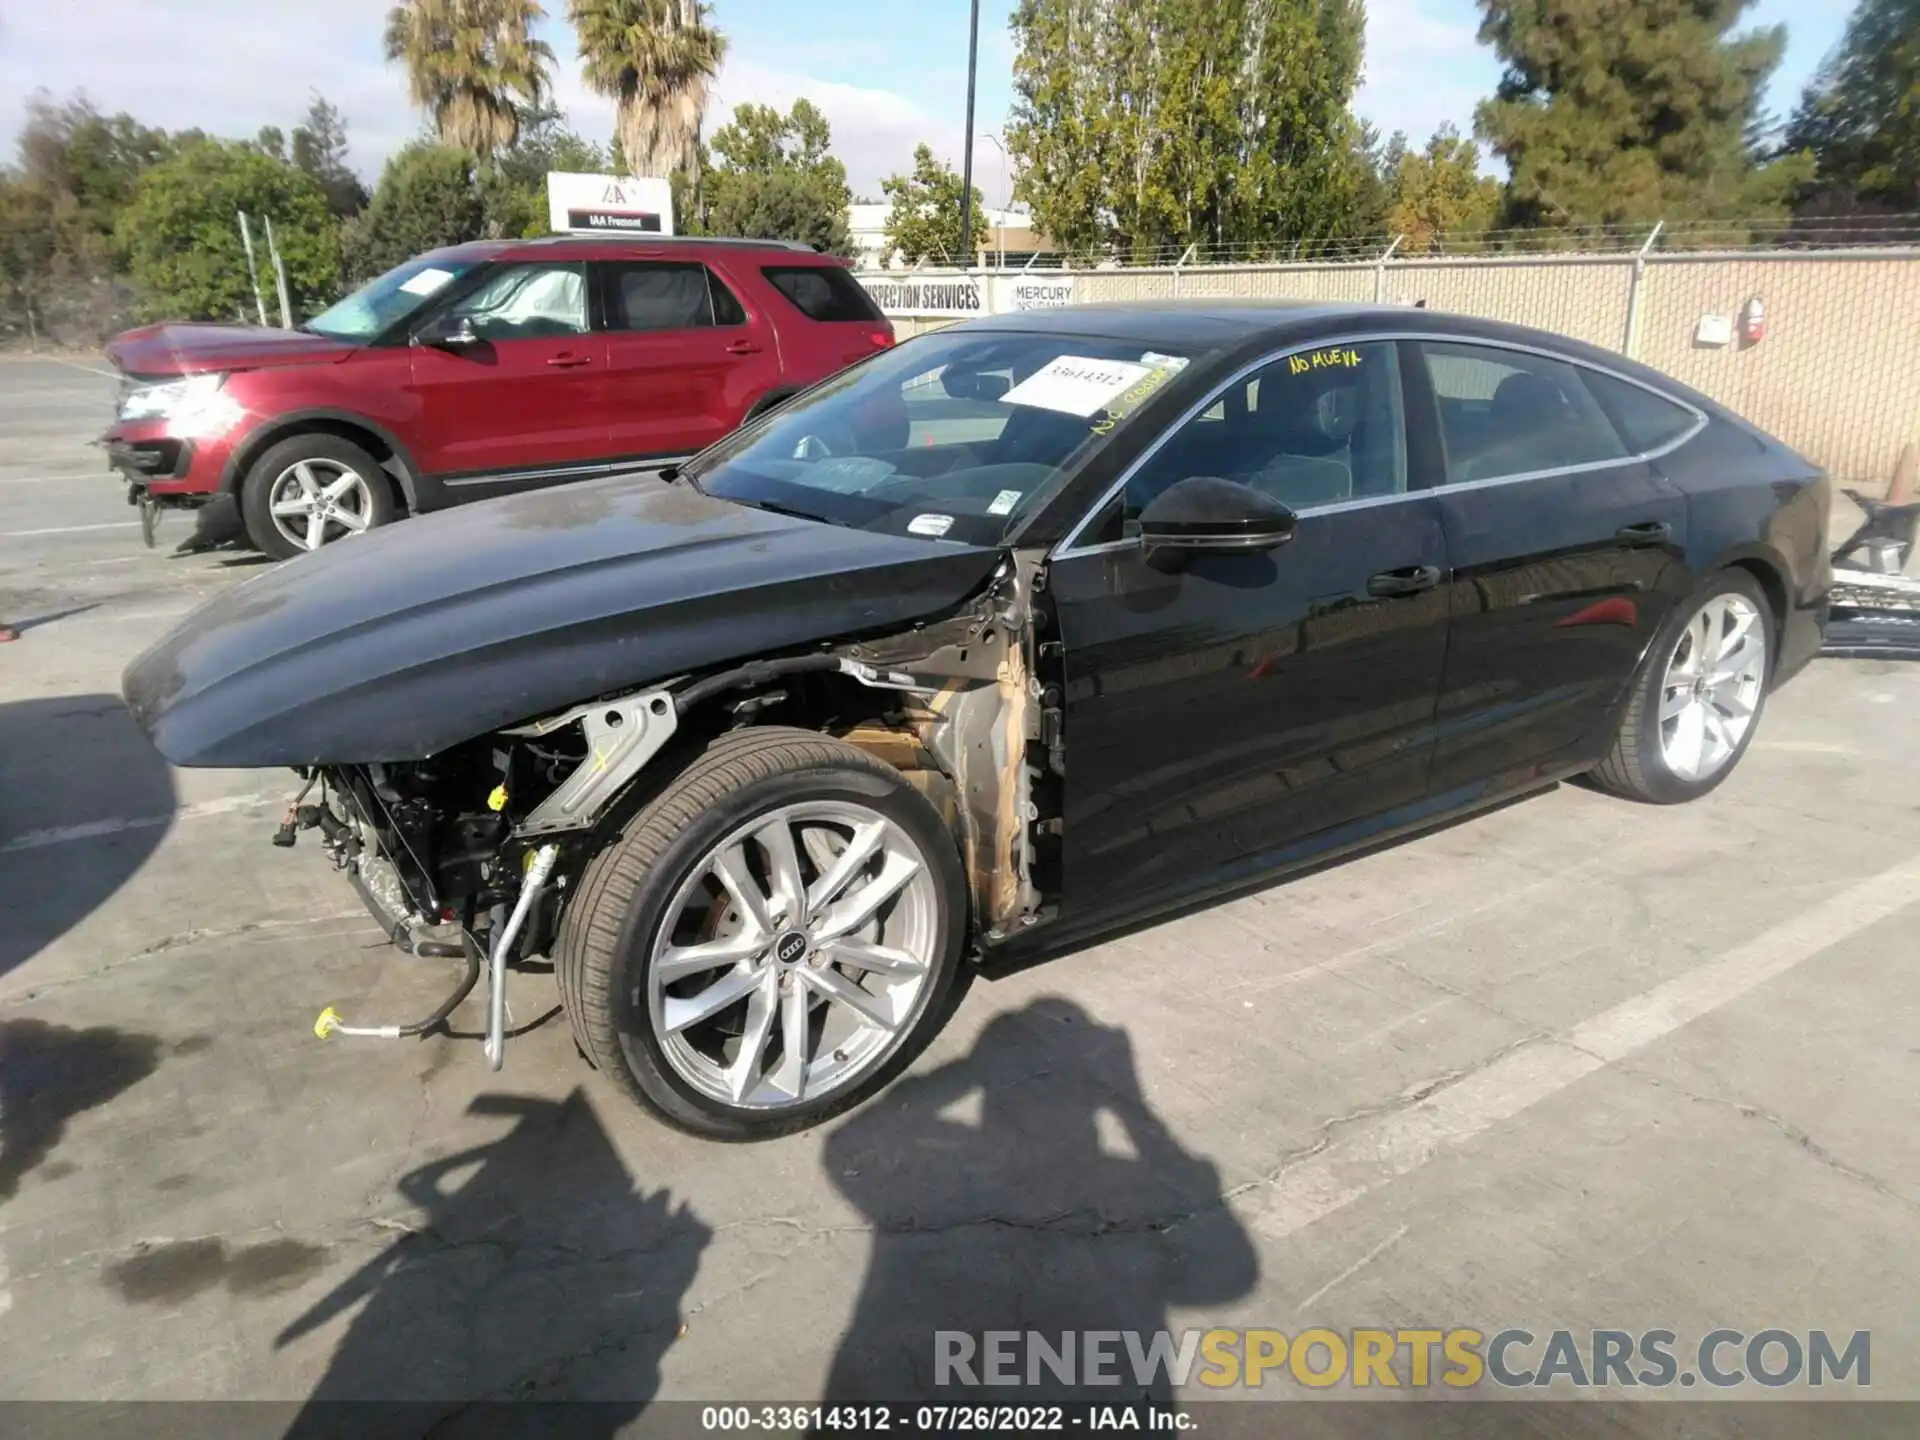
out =
{"type": "Polygon", "coordinates": [[[1757,228],[1622,230],[1563,252],[1511,244],[1413,253],[1380,242],[1338,259],[1202,265],[1196,252],[1181,252],[1164,265],[858,278],[900,336],[970,315],[1175,298],[1423,303],[1530,324],[1665,371],[1837,480],[1882,484],[1901,447],[1920,442],[1920,228],[1908,217],[1880,217],[1728,244],[1757,228]],[[1740,324],[1749,301],[1764,315],[1763,338],[1747,338],[1740,324]]]}

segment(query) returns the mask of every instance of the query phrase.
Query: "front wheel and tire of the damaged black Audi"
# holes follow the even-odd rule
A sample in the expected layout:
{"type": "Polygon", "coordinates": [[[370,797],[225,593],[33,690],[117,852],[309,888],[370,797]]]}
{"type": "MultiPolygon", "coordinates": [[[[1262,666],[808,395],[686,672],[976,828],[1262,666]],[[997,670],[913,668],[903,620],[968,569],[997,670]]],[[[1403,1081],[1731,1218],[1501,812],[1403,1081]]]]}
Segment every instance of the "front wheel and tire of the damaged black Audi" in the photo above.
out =
{"type": "Polygon", "coordinates": [[[899,770],[749,728],[588,864],[555,973],[574,1039],[626,1094],[758,1140],[893,1079],[945,1021],[964,937],[952,835],[899,770]]]}

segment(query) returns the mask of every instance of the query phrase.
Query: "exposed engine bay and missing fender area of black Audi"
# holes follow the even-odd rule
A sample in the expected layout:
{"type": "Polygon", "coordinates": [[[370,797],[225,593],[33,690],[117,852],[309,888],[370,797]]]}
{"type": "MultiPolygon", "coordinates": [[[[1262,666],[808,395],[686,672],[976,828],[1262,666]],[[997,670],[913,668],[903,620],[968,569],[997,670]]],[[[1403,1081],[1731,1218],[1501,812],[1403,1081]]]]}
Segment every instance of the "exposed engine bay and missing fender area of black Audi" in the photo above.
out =
{"type": "Polygon", "coordinates": [[[1041,924],[1058,895],[1064,776],[1050,634],[1044,572],[1016,555],[958,612],[900,634],[597,697],[424,760],[303,768],[275,843],[317,831],[399,948],[468,966],[422,1021],[349,1025],[326,1010],[317,1033],[426,1033],[486,960],[499,1068],[509,960],[545,954],[588,860],[691,756],[755,724],[856,745],[927,797],[968,876],[975,947],[1041,924]]]}

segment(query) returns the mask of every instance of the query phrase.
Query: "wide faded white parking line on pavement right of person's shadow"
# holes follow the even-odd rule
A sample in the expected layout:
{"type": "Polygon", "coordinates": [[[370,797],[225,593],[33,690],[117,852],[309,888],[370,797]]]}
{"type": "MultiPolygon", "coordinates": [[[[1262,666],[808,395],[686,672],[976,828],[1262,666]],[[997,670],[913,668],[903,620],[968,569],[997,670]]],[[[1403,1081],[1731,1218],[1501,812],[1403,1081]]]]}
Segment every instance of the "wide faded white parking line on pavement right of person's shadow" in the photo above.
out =
{"type": "Polygon", "coordinates": [[[1920,856],[1882,870],[1718,960],[1655,985],[1571,1031],[1523,1044],[1419,1104],[1283,1165],[1267,1181],[1242,1187],[1236,1194],[1244,1196],[1248,1225],[1271,1238],[1296,1235],[1382,1185],[1411,1175],[1442,1150],[1484,1135],[1607,1062],[1644,1050],[1916,902],[1920,856]]]}

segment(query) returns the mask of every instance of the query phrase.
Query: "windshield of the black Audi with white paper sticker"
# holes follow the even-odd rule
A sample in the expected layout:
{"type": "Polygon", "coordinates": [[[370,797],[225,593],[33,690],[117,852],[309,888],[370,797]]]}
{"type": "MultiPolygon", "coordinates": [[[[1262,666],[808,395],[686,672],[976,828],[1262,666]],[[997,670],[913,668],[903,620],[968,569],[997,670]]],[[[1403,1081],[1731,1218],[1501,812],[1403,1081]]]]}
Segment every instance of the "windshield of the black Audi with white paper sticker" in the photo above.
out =
{"type": "Polygon", "coordinates": [[[710,495],[858,530],[998,545],[1196,351],[1073,334],[929,334],[689,467],[710,495]]]}

